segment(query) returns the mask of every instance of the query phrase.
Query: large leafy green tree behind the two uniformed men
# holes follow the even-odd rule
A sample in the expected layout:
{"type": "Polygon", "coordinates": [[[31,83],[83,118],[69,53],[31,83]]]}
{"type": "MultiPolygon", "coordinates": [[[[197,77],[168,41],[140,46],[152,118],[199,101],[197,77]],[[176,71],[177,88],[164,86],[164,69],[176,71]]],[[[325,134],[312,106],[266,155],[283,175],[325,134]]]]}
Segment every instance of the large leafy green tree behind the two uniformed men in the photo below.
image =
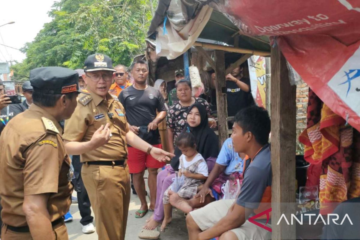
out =
{"type": "MultiPolygon", "coordinates": [[[[49,12],[34,41],[22,51],[26,59],[13,65],[14,78],[23,80],[32,68],[82,68],[86,56],[99,52],[114,64],[129,65],[144,51],[152,19],[150,0],[60,0],[49,12]]],[[[153,1],[154,8],[157,1],[153,1]]]]}

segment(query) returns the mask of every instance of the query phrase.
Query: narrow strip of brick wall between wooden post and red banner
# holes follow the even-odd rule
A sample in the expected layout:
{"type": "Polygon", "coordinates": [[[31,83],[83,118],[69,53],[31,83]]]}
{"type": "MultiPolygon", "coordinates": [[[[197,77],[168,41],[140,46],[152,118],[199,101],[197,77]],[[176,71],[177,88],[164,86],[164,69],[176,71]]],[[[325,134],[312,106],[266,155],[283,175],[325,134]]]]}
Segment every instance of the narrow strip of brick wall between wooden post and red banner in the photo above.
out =
{"type": "Polygon", "coordinates": [[[303,146],[298,141],[300,133],[306,128],[307,95],[309,87],[306,83],[296,86],[296,151],[303,154],[303,146]]]}

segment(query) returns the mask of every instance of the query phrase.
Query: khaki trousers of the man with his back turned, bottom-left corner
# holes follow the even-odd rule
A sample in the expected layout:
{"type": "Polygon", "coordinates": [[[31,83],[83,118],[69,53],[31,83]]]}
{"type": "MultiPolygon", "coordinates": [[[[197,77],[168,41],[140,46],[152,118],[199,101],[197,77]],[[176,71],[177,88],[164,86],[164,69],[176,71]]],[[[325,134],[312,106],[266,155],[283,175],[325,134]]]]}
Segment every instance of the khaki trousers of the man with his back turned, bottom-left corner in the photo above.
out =
{"type": "MultiPolygon", "coordinates": [[[[68,240],[69,236],[65,223],[55,225],[53,228],[55,240],[68,240]]],[[[32,240],[30,232],[13,232],[6,224],[1,228],[1,240],[32,240]]]]}

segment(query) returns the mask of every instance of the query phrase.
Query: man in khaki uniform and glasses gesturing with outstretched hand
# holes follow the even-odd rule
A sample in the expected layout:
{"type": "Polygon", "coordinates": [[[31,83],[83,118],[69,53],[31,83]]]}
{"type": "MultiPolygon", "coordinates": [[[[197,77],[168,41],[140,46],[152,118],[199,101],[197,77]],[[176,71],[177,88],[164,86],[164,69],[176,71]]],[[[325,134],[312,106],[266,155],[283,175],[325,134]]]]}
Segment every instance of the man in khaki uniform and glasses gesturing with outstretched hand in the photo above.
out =
{"type": "Polygon", "coordinates": [[[123,240],[130,203],[127,143],[162,162],[172,154],[129,131],[123,106],[108,93],[115,70],[107,55],[90,55],[84,70],[87,87],[79,95],[73,116],[65,122],[65,147],[69,154],[81,155],[84,163],[81,177],[99,239],[123,240]]]}

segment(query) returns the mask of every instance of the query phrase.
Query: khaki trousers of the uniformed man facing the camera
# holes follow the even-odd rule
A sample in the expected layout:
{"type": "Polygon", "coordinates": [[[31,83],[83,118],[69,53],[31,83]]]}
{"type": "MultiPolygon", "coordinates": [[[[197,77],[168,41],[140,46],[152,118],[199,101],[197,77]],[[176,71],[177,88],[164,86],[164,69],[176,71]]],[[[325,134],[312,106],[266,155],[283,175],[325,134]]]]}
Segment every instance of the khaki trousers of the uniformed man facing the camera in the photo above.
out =
{"type": "Polygon", "coordinates": [[[130,173],[125,166],[82,164],[81,177],[95,215],[99,240],[124,240],[130,204],[130,173]]]}

